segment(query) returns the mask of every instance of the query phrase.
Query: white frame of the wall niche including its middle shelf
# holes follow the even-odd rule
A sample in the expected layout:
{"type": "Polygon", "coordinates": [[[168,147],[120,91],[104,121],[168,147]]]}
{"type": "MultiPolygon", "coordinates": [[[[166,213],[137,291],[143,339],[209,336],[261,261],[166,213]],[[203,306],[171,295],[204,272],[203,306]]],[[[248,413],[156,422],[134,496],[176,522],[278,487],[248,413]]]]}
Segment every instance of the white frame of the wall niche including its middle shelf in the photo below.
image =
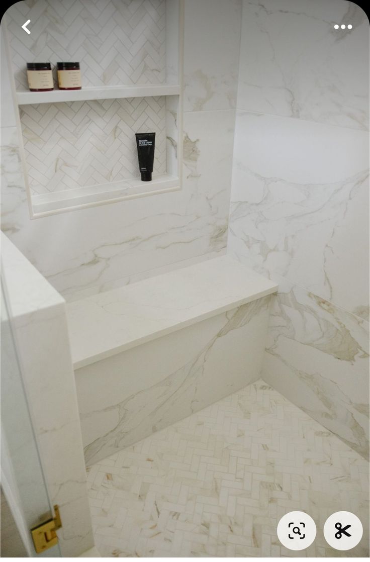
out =
{"type": "Polygon", "coordinates": [[[2,32],[10,70],[10,83],[19,133],[19,151],[30,219],[182,189],[183,165],[183,59],[184,0],[166,0],[166,83],[86,87],[51,92],[17,91],[7,36],[6,15],[2,32]],[[166,99],[166,173],[141,182],[140,176],[86,187],[32,195],[28,179],[19,106],[39,103],[164,96],[166,99]]]}

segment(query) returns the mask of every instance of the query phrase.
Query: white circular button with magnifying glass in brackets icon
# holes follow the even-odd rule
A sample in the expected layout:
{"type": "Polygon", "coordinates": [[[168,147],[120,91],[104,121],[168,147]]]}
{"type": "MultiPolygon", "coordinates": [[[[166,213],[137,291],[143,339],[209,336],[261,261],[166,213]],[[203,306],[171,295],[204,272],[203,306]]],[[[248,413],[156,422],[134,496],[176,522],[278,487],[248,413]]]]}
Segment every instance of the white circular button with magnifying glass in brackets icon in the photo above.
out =
{"type": "Polygon", "coordinates": [[[315,540],[316,525],[312,517],[303,511],[290,511],[280,519],[277,535],[287,549],[303,550],[315,540]]]}

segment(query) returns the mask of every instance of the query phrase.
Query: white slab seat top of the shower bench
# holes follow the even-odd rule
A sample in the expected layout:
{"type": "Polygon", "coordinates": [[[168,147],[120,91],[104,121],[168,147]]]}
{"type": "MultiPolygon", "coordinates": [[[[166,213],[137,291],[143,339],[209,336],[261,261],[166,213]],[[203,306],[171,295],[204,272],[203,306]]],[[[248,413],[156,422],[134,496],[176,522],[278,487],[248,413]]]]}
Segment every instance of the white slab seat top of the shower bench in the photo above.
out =
{"type": "Polygon", "coordinates": [[[276,290],[275,283],[222,256],[70,302],[74,366],[88,365],[276,290]]]}

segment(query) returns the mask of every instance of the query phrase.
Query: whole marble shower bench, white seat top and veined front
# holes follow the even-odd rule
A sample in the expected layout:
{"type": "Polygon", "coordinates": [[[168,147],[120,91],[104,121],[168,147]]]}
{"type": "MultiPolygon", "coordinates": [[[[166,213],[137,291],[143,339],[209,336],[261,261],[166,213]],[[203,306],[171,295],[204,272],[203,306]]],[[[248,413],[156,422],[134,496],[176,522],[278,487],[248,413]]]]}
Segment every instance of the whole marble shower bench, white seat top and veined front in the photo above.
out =
{"type": "Polygon", "coordinates": [[[257,380],[276,291],[222,256],[68,303],[86,463],[257,380]]]}

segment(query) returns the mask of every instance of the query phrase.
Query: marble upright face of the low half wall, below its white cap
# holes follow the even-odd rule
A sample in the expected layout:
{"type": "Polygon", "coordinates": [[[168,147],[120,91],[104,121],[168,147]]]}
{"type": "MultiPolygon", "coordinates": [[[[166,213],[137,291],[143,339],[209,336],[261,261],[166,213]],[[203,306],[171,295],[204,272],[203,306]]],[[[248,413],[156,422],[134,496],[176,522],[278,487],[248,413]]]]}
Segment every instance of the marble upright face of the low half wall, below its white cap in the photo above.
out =
{"type": "Polygon", "coordinates": [[[65,305],[17,323],[17,338],[51,501],[64,522],[61,552],[76,556],[94,542],[65,305]]]}

